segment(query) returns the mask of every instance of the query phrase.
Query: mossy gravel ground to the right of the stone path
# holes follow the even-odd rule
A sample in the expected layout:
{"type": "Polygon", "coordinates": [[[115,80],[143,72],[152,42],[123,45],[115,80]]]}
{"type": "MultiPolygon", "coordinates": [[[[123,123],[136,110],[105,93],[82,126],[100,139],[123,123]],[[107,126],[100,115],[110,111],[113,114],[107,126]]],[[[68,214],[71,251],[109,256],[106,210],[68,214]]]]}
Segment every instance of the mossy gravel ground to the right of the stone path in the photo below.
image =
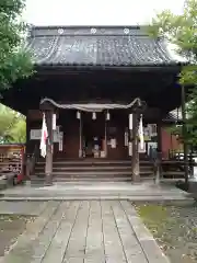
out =
{"type": "Polygon", "coordinates": [[[197,203],[134,203],[172,263],[197,262],[197,203]]]}

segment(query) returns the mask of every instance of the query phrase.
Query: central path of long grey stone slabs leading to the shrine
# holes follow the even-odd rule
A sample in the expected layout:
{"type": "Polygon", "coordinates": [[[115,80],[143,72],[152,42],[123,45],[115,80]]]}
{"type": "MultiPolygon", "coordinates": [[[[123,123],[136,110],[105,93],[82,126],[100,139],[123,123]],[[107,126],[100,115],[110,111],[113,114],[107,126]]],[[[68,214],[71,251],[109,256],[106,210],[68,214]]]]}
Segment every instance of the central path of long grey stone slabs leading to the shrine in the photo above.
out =
{"type": "Polygon", "coordinates": [[[1,263],[166,263],[127,201],[45,203],[1,263]]]}

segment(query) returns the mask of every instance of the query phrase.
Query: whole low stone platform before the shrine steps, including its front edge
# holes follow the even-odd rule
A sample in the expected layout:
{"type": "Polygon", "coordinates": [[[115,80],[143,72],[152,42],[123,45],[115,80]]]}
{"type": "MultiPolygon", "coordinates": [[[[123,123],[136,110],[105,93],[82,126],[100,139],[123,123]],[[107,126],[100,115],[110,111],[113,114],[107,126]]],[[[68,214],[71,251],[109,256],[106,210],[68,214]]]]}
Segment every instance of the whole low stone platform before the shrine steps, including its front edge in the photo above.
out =
{"type": "Polygon", "coordinates": [[[173,184],[153,182],[57,182],[51,186],[23,185],[0,192],[1,201],[77,201],[77,199],[130,199],[130,201],[184,201],[187,193],[173,184]]]}

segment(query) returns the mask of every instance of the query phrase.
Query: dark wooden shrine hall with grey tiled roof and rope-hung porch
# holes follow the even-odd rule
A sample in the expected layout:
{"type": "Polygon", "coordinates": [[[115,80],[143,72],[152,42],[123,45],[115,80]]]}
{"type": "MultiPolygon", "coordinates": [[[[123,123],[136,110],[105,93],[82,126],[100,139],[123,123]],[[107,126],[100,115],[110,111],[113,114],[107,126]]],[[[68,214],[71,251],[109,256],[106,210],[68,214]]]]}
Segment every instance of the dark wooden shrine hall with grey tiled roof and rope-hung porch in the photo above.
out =
{"type": "Polygon", "coordinates": [[[138,180],[138,160],[150,146],[161,151],[162,119],[181,105],[177,54],[143,26],[33,26],[25,48],[35,73],[3,91],[2,102],[26,116],[30,157],[39,148],[45,113],[48,181],[57,160],[130,160],[138,180]]]}

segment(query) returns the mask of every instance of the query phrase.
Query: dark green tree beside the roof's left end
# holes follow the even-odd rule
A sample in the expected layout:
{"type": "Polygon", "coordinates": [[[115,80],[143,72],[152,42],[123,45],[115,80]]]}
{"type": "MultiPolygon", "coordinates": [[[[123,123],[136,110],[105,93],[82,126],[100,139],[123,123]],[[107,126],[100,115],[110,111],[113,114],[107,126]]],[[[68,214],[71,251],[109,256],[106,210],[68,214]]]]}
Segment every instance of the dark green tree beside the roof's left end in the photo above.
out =
{"type": "Polygon", "coordinates": [[[27,26],[21,21],[24,0],[0,0],[0,89],[32,73],[23,41],[27,26]]]}

